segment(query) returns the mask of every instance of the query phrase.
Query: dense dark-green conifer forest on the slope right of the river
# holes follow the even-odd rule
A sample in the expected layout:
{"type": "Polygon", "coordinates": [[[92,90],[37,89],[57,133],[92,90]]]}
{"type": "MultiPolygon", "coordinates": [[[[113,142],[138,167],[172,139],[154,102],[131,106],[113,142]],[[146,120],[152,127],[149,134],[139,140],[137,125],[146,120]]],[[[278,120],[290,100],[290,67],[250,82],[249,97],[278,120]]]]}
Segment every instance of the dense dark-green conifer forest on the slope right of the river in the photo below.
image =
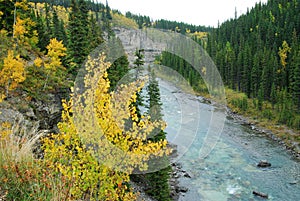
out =
{"type": "MultiPolygon", "coordinates": [[[[299,3],[258,3],[246,14],[213,29],[207,39],[196,38],[215,61],[224,84],[245,94],[230,100],[231,105],[296,129],[300,128],[299,3]]],[[[180,72],[196,90],[206,91],[199,73],[186,61],[169,52],[160,60],[180,72]]]]}

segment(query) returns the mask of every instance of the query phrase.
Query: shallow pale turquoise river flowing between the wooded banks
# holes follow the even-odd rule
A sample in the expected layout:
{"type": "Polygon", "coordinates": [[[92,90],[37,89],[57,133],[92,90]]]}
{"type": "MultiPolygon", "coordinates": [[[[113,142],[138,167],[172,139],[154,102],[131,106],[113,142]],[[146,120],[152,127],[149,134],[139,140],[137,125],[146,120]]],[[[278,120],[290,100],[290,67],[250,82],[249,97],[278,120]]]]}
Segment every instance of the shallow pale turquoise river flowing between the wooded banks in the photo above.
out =
{"type": "Polygon", "coordinates": [[[212,119],[222,121],[224,112],[213,113],[213,106],[166,82],[160,82],[160,90],[167,138],[178,145],[176,160],[192,176],[179,179],[180,185],[189,188],[180,200],[263,200],[254,196],[253,190],[268,194],[268,200],[300,200],[300,162],[278,143],[229,118],[220,136],[208,134],[213,126],[222,126],[212,119]],[[215,141],[209,142],[213,149],[201,155],[208,139],[215,141]],[[256,167],[263,159],[272,166],[256,167]]]}

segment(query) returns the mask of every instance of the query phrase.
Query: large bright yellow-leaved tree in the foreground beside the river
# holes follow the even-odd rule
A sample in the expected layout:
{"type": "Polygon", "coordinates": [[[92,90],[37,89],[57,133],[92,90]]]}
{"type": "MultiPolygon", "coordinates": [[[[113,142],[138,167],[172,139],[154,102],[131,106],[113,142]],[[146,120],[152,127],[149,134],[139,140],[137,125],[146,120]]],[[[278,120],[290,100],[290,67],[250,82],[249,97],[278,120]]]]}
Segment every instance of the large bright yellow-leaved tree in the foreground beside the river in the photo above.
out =
{"type": "Polygon", "coordinates": [[[106,73],[110,64],[104,59],[88,58],[82,80],[85,90],[75,88],[71,100],[63,101],[60,134],[44,140],[45,159],[72,182],[72,199],[132,201],[136,195],[128,187],[129,175],[135,168],[146,170],[150,157],[171,150],[165,140],[147,140],[164,122],[136,119],[132,102],[142,84],[131,83],[110,93],[106,73]]]}

